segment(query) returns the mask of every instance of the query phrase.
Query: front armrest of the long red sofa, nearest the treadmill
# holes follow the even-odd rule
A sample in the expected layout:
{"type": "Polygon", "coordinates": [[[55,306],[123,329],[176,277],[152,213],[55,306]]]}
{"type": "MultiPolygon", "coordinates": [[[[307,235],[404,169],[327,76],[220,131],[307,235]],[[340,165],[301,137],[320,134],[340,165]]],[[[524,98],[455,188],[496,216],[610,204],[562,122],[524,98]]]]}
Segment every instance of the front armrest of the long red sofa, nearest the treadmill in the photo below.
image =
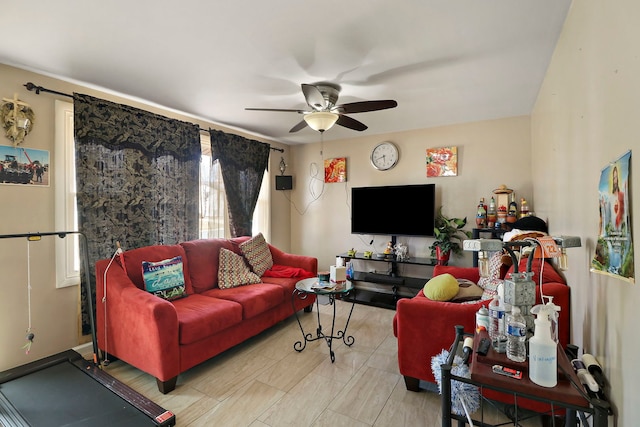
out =
{"type": "Polygon", "coordinates": [[[161,381],[176,377],[180,353],[175,307],[137,288],[115,261],[105,276],[108,262],[96,262],[99,348],[161,381]]]}

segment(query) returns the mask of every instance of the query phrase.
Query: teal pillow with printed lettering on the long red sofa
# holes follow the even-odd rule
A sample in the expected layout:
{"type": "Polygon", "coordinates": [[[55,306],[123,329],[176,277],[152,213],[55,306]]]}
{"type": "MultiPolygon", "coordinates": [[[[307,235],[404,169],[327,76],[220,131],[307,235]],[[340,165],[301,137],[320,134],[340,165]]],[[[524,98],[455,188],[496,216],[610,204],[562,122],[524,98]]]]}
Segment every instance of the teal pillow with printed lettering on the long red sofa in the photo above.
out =
{"type": "Polygon", "coordinates": [[[155,296],[173,301],[186,297],[182,257],[158,262],[142,261],[144,288],[155,296]]]}

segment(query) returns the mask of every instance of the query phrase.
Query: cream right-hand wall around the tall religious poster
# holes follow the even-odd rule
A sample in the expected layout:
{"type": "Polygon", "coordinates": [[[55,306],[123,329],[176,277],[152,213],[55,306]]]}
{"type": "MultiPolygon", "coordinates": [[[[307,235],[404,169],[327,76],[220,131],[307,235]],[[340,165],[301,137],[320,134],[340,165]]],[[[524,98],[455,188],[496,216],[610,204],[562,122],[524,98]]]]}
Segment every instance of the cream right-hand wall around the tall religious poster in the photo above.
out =
{"type": "MultiPolygon", "coordinates": [[[[552,232],[583,240],[582,248],[571,250],[566,272],[573,341],[604,365],[619,426],[640,423],[640,288],[590,273],[589,263],[598,233],[600,172],[640,147],[639,17],[636,0],[574,1],[532,114],[537,208],[549,217],[552,232]]],[[[632,153],[632,165],[638,155],[632,153]]],[[[640,188],[640,171],[631,169],[633,192],[640,188]]],[[[632,194],[630,202],[637,246],[640,198],[632,194]]],[[[635,271],[638,265],[636,256],[635,271]]]]}

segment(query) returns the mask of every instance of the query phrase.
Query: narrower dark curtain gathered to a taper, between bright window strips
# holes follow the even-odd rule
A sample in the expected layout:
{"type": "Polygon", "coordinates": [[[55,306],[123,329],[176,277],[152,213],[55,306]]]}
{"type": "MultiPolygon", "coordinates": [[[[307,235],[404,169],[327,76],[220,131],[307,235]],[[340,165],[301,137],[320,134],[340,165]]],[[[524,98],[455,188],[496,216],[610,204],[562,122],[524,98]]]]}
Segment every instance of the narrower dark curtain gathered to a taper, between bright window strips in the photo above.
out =
{"type": "Polygon", "coordinates": [[[253,211],[269,162],[269,144],[209,129],[212,160],[220,162],[233,237],[250,236],[253,211]]]}

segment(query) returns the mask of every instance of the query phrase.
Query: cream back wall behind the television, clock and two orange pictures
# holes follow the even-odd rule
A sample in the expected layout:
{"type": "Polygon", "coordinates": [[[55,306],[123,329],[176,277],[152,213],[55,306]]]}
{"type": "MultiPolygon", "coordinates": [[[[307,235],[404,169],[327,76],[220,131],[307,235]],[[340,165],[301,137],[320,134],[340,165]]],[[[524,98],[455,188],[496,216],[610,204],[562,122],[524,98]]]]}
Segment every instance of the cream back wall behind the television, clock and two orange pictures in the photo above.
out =
{"type": "MultiPolygon", "coordinates": [[[[480,197],[488,200],[500,184],[515,189],[518,197],[531,200],[530,133],[529,118],[515,117],[294,146],[292,250],[316,256],[319,268],[328,269],[338,253],[351,247],[360,251],[371,249],[368,244],[372,236],[350,233],[351,187],[359,186],[435,183],[436,204],[443,205],[443,212],[449,216],[466,216],[470,230],[475,224],[480,197]],[[384,140],[398,145],[400,160],[394,169],[381,172],[371,166],[369,155],[384,140]],[[443,146],[458,147],[458,176],[427,178],[426,149],[443,146]],[[347,182],[323,184],[323,158],[334,157],[347,158],[347,182]],[[320,197],[313,201],[313,194],[320,197]]],[[[535,206],[532,201],[534,210],[535,206]]],[[[380,206],[371,214],[380,216],[381,221],[401,221],[404,209],[420,209],[419,201],[380,206]]],[[[388,240],[387,236],[375,237],[372,250],[382,251],[388,240]]],[[[410,255],[430,255],[432,239],[399,238],[399,241],[408,243],[410,255]]],[[[453,259],[451,264],[471,265],[471,255],[453,259]]]]}

